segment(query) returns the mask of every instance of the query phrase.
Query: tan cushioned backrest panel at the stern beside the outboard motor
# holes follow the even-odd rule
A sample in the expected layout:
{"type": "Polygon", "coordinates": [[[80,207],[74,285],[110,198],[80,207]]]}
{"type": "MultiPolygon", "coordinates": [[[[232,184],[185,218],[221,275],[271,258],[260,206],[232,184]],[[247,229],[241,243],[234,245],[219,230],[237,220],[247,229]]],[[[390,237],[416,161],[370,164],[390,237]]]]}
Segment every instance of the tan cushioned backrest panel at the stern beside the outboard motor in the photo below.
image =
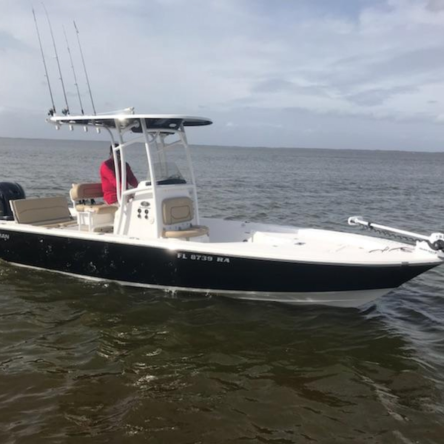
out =
{"type": "Polygon", "coordinates": [[[10,201],[16,222],[39,226],[74,223],[68,202],[63,196],[10,201]]]}

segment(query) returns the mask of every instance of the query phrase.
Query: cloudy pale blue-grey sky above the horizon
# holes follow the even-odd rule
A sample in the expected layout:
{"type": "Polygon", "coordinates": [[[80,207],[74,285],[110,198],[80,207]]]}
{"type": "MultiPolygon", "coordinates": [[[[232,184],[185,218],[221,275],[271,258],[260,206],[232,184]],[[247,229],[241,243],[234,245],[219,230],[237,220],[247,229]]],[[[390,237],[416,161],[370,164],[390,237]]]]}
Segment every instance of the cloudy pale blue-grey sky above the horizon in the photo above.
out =
{"type": "MultiPolygon", "coordinates": [[[[190,143],[444,151],[444,0],[45,0],[71,114],[208,117],[190,143]]],[[[63,93],[40,2],[0,0],[0,137],[56,131],[63,93]]],[[[99,136],[101,137],[101,136],[99,136]]],[[[102,136],[103,137],[103,136],[102,136]]]]}

